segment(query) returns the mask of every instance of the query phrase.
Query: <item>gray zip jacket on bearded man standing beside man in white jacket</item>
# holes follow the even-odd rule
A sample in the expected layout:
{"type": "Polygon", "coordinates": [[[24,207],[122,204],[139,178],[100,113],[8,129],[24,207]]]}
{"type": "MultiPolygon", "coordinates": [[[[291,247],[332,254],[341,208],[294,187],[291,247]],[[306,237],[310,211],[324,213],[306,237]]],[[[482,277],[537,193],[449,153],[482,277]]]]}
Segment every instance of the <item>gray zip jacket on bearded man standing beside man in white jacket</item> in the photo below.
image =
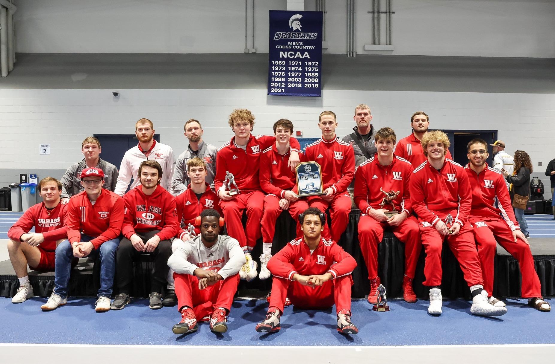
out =
{"type": "Polygon", "coordinates": [[[205,178],[205,182],[210,184],[210,188],[214,189],[214,176],[216,174],[216,153],[218,148],[205,143],[204,141],[199,143],[198,153],[195,154],[191,152],[189,146],[186,150],[179,155],[177,161],[175,162],[174,176],[171,181],[171,188],[177,196],[179,193],[185,191],[189,185],[189,177],[187,176],[187,162],[194,157],[199,157],[206,163],[206,172],[208,176],[205,178]]]}

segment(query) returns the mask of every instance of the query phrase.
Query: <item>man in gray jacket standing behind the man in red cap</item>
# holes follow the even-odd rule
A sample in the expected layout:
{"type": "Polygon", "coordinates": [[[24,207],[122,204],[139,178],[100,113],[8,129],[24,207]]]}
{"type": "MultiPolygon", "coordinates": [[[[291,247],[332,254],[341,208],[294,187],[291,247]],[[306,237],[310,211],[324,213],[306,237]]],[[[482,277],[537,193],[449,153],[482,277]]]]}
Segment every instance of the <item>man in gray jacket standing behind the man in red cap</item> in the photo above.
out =
{"type": "Polygon", "coordinates": [[[85,156],[82,161],[75,163],[65,171],[60,182],[62,182],[62,204],[69,202],[69,198],[84,188],[81,184],[81,172],[87,168],[100,168],[104,171],[104,185],[102,188],[114,192],[115,183],[119,177],[118,168],[112,163],[100,159],[100,141],[94,136],[88,136],[81,143],[81,153],[85,156]]]}

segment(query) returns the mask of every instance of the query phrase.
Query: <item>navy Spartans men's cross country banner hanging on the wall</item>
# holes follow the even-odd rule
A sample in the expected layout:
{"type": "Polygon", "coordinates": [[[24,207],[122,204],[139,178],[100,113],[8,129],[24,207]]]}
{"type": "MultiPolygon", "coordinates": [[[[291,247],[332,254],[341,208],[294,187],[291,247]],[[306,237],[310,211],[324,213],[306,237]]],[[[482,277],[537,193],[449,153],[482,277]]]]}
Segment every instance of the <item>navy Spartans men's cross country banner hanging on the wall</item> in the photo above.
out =
{"type": "Polygon", "coordinates": [[[322,96],[322,12],[270,10],[268,95],[322,96]]]}

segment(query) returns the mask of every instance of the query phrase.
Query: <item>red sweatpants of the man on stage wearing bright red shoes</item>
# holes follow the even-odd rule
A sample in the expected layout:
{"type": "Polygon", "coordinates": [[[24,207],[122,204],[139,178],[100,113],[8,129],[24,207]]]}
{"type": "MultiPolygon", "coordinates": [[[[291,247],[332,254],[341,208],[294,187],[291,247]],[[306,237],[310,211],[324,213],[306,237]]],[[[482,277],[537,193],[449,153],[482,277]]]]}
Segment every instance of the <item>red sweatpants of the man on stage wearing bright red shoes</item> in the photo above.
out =
{"type": "Polygon", "coordinates": [[[375,279],[378,275],[378,244],[384,238],[385,229],[391,230],[397,239],[405,243],[405,274],[408,278],[415,278],[416,263],[422,249],[416,218],[409,216],[400,225],[390,226],[362,214],[359,219],[359,243],[368,268],[368,279],[375,279]]]}

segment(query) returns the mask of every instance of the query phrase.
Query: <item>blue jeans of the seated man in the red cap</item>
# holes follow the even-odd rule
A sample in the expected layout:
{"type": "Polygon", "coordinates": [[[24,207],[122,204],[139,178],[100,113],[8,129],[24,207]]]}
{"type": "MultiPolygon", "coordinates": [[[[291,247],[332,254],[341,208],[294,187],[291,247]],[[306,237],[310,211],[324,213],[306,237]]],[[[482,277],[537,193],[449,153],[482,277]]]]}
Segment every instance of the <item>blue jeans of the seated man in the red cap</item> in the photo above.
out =
{"type": "MultiPolygon", "coordinates": [[[[81,234],[82,242],[89,242],[94,238],[81,234]]],[[[87,257],[94,258],[100,254],[100,289],[98,297],[112,295],[115,274],[115,251],[118,249],[119,239],[104,242],[98,249],[94,249],[87,257]]],[[[69,275],[72,270],[73,248],[69,240],[64,240],[56,248],[56,270],[54,271],[54,292],[61,298],[68,296],[69,275]]]]}

